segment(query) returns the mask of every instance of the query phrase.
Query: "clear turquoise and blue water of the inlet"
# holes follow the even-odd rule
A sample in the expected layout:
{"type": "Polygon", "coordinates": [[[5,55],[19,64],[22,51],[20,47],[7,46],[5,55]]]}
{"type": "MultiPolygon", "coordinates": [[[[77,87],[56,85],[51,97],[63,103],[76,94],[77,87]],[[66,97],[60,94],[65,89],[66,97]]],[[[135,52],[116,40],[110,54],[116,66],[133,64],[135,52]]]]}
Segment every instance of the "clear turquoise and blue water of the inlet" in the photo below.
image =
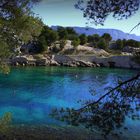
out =
{"type": "Polygon", "coordinates": [[[60,125],[48,115],[53,108],[78,108],[78,100],[98,98],[106,87],[115,86],[118,77],[127,79],[136,73],[108,68],[12,68],[9,75],[0,74],[0,116],[11,112],[15,124],[60,125]],[[96,96],[91,96],[92,89],[96,96]]]}

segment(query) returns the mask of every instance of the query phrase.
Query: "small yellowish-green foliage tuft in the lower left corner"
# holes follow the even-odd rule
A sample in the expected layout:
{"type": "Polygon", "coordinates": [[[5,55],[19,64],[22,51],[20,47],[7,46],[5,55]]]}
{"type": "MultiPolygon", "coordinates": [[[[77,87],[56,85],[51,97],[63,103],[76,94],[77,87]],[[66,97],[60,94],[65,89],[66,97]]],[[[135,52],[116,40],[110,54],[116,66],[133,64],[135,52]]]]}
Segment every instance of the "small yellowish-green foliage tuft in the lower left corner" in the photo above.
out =
{"type": "Polygon", "coordinates": [[[7,134],[10,131],[10,123],[12,121],[12,114],[5,113],[2,118],[0,118],[0,134],[7,134]]]}

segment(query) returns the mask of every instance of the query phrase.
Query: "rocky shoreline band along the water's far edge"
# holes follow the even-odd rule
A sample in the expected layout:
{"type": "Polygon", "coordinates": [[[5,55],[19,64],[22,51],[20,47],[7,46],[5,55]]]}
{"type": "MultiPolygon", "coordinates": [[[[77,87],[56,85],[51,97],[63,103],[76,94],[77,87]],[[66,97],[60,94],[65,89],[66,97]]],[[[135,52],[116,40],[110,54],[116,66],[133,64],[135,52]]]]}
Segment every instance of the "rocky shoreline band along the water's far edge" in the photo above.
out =
{"type": "Polygon", "coordinates": [[[111,67],[140,69],[132,56],[97,57],[93,55],[22,55],[8,60],[12,66],[68,66],[68,67],[111,67]]]}

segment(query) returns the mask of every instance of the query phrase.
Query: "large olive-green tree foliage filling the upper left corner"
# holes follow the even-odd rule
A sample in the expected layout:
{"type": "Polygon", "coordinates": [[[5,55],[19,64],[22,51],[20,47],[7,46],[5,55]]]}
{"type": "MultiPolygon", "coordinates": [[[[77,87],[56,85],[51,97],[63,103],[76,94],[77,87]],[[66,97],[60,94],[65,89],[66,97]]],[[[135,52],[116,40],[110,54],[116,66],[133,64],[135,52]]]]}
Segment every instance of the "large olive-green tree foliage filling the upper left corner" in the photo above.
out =
{"type": "MultiPolygon", "coordinates": [[[[0,1],[0,64],[23,42],[28,42],[41,31],[42,22],[34,17],[31,8],[40,0],[0,1]]],[[[7,73],[7,72],[6,72],[7,73]]]]}

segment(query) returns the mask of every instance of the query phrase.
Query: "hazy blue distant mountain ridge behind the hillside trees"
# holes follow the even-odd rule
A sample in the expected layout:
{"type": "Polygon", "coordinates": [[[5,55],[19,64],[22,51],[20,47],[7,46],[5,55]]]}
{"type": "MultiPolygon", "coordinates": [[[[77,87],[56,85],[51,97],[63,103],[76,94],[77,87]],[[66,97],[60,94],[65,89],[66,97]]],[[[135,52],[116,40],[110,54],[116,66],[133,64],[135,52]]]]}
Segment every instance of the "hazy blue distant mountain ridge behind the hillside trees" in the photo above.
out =
{"type": "MultiPolygon", "coordinates": [[[[57,29],[59,26],[52,26],[52,29],[57,29]]],[[[140,41],[140,36],[137,36],[135,34],[128,34],[124,33],[121,30],[117,29],[95,29],[95,28],[86,28],[86,27],[72,27],[78,34],[86,34],[86,35],[92,35],[92,34],[99,34],[100,36],[104,33],[109,33],[113,40],[117,39],[134,39],[137,41],[140,41]]]]}

